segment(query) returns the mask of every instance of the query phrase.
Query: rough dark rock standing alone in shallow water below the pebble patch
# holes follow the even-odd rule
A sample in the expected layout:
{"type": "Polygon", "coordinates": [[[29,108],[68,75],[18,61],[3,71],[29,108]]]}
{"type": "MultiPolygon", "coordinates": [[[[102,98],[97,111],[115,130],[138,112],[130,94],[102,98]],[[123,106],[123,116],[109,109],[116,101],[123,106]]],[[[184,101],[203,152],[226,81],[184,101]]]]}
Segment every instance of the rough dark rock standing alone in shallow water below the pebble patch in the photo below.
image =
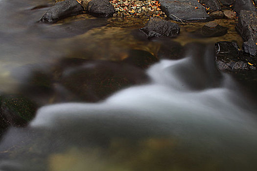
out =
{"type": "Polygon", "coordinates": [[[178,24],[165,21],[159,18],[151,18],[145,25],[140,29],[147,35],[147,38],[153,37],[176,37],[180,32],[178,24]]]}

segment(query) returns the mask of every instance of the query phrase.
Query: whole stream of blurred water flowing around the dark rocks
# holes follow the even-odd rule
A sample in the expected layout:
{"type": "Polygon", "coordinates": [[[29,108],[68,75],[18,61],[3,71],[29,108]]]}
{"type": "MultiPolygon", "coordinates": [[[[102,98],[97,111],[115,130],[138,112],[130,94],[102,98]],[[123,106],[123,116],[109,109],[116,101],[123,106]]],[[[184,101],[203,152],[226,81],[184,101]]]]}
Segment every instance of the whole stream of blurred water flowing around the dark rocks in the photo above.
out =
{"type": "MultiPolygon", "coordinates": [[[[138,30],[145,23],[140,20],[83,14],[38,23],[51,4],[0,0],[0,91],[23,94],[40,106],[27,127],[9,128],[0,140],[0,171],[257,170],[256,72],[245,79],[215,66],[213,42],[242,42],[234,27],[227,37],[188,38],[187,29],[202,25],[192,23],[176,39],[149,41],[138,30]],[[38,5],[44,8],[34,9],[38,5]],[[131,49],[169,59],[145,70],[119,63],[131,49]],[[59,83],[51,84],[62,96],[41,86],[32,89],[35,73],[43,73],[43,80],[60,67],[69,75],[98,64],[63,66],[64,59],[122,65],[116,72],[133,70],[133,78],[147,81],[95,103],[66,97],[59,83]]],[[[81,87],[80,81],[72,84],[81,87]]]]}

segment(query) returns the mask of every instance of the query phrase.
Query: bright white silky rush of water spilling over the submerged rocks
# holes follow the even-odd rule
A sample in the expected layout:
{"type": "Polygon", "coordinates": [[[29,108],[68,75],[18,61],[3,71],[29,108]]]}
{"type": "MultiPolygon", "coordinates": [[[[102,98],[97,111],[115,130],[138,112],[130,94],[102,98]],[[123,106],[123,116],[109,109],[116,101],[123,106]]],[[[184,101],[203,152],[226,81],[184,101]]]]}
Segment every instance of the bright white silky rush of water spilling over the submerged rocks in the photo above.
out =
{"type": "MultiPolygon", "coordinates": [[[[237,99],[239,103],[245,103],[239,94],[224,86],[197,91],[187,90],[187,85],[178,80],[176,73],[170,72],[172,67],[185,65],[188,60],[163,60],[147,71],[152,83],[126,88],[101,103],[66,103],[42,107],[30,126],[58,127],[62,119],[84,119],[86,123],[89,117],[101,120],[103,116],[117,117],[117,111],[125,111],[125,119],[119,122],[126,122],[130,114],[136,114],[139,118],[153,118],[164,122],[170,125],[171,129],[179,122],[182,123],[181,130],[184,129],[185,123],[192,129],[227,128],[239,134],[257,133],[254,113],[236,106],[233,102],[237,99]]],[[[123,115],[120,114],[120,117],[123,115]]],[[[183,131],[187,132],[186,129],[183,131]]]]}

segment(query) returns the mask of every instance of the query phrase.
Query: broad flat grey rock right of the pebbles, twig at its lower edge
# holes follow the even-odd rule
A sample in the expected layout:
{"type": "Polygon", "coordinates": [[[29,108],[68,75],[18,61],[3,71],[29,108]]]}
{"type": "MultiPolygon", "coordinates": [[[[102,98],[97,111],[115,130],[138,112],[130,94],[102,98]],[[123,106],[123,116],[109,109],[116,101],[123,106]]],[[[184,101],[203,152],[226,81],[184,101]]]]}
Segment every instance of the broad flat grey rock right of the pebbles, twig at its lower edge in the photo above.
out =
{"type": "Polygon", "coordinates": [[[167,17],[175,21],[207,21],[210,16],[197,0],[160,0],[167,17]]]}

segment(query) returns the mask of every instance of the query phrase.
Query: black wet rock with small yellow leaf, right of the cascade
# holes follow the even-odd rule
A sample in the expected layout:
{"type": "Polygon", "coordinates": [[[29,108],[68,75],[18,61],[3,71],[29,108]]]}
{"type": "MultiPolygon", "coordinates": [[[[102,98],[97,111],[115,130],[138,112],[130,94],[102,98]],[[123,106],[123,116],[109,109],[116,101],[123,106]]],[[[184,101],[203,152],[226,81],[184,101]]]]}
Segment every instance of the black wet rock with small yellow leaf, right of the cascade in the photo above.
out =
{"type": "Polygon", "coordinates": [[[256,69],[255,61],[248,61],[240,55],[239,48],[233,42],[218,42],[216,47],[216,65],[222,71],[238,71],[256,69]]]}

